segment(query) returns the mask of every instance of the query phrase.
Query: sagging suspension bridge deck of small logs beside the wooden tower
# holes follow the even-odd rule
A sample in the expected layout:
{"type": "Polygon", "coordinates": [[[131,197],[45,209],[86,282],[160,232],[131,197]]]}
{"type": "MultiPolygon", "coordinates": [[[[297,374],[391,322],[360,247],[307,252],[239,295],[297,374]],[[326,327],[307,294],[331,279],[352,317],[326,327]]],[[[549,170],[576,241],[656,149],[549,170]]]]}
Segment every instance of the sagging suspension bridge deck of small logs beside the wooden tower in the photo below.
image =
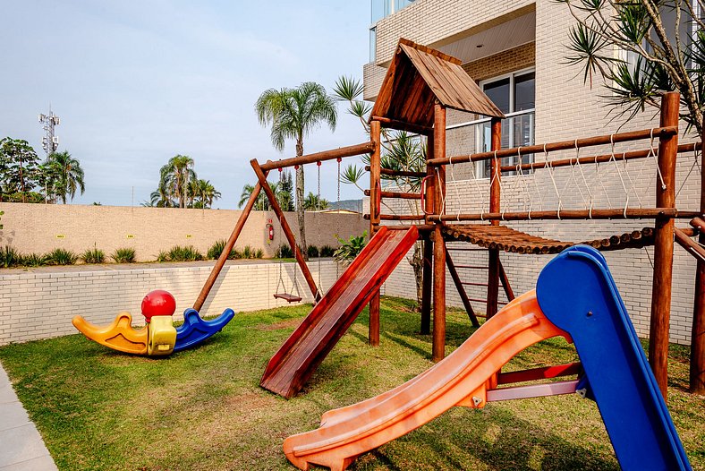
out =
{"type": "Polygon", "coordinates": [[[641,248],[654,242],[653,227],[612,235],[604,239],[583,242],[562,242],[545,237],[527,234],[506,226],[488,224],[446,225],[443,233],[448,241],[463,241],[480,245],[488,249],[497,249],[513,253],[559,253],[577,244],[586,244],[601,251],[641,248]]]}

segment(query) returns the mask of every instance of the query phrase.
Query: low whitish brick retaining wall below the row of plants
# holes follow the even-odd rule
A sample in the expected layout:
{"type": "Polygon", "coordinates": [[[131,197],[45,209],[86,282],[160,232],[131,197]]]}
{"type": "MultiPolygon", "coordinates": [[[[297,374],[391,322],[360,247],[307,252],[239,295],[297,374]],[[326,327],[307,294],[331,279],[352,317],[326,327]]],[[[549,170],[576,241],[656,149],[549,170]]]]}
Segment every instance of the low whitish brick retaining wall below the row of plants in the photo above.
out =
{"type": "MultiPolygon", "coordinates": [[[[135,325],[143,325],[140,314],[142,297],[152,289],[166,289],[176,298],[174,320],[183,319],[183,310],[191,307],[200,292],[212,263],[192,267],[17,272],[0,275],[0,345],[53,338],[77,333],[71,320],[81,314],[96,324],[108,324],[121,311],[132,313],[135,325]]],[[[336,280],[336,263],[311,261],[309,268],[322,289],[336,280]],[[320,278],[319,278],[320,268],[320,278]]],[[[285,285],[293,286],[293,263],[283,267],[285,285]]],[[[208,301],[201,309],[204,316],[216,316],[225,308],[234,309],[238,317],[248,311],[287,305],[272,296],[279,279],[279,265],[274,262],[228,262],[208,301]]],[[[312,298],[301,273],[297,276],[304,302],[312,298]]]]}

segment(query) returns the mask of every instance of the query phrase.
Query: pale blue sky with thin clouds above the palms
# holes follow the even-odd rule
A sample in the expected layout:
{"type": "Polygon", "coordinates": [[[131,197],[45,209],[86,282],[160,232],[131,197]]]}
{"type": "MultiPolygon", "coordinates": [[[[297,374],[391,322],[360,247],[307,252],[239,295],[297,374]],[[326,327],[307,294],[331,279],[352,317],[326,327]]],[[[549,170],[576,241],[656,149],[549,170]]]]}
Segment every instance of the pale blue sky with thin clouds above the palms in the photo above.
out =
{"type": "MultiPolygon", "coordinates": [[[[44,158],[38,114],[51,106],[58,150],[86,174],[78,204],[148,201],[159,168],[185,154],[223,194],[214,208],[234,209],[255,183],[251,158],[295,155],[292,141],[272,147],[259,94],[304,81],[330,91],[340,75],[361,80],[369,59],[369,0],[6,0],[2,12],[0,137],[44,158]]],[[[336,132],[319,128],[304,151],[365,140],[340,104],[336,132]]],[[[306,170],[316,193],[316,168],[306,170]]],[[[361,198],[341,186],[341,199],[361,198]]],[[[321,167],[321,196],[336,201],[335,160],[321,167]]]]}

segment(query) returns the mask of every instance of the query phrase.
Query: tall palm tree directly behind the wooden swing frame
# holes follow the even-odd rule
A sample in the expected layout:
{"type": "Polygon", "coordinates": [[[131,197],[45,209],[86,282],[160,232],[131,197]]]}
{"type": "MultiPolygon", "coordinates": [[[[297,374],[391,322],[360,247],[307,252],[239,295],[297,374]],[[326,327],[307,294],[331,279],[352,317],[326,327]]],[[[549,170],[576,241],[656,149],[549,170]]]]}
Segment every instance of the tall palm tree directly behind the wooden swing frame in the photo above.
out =
{"type": "MultiPolygon", "coordinates": [[[[336,130],[336,100],[329,97],[326,89],[313,81],[302,83],[296,89],[265,90],[255,104],[259,124],[271,124],[270,137],[276,150],[284,150],[285,140],[296,141],[296,156],[303,155],[303,138],[327,124],[336,130]]],[[[307,253],[306,229],[303,216],[303,167],[296,169],[296,213],[299,221],[299,246],[304,256],[307,253]]]]}

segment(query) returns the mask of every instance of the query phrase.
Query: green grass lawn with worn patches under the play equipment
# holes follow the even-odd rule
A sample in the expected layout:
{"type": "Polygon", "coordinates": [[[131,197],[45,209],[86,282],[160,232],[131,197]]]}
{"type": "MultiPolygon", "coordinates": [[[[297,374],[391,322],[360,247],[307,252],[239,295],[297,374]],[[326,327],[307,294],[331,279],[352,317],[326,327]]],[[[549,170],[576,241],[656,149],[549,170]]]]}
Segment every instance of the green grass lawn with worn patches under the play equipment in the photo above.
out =
{"type": "MultiPolygon", "coordinates": [[[[430,337],[416,333],[419,314],[408,301],[385,298],[379,347],[366,344],[365,312],[297,398],[261,390],[269,357],[309,310],[238,313],[206,345],[164,359],[121,355],[74,335],[0,348],[0,361],[60,469],[293,469],[285,437],[432,365],[430,337]]],[[[464,313],[449,313],[447,351],[472,331],[464,313]]],[[[669,407],[692,466],[705,469],[705,401],[684,391],[687,352],[671,350],[669,407]]],[[[552,339],[508,368],[575,357],[552,339]]],[[[351,469],[619,467],[595,404],[570,395],[456,407],[351,469]]]]}

